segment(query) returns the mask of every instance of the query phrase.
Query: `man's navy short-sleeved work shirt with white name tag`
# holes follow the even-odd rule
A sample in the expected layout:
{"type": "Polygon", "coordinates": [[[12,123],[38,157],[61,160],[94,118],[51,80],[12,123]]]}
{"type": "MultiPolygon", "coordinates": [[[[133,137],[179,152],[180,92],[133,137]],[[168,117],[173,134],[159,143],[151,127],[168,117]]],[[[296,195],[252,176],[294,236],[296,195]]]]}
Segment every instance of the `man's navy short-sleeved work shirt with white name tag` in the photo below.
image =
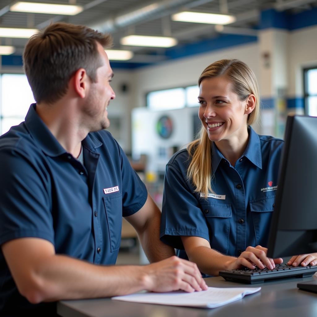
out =
{"type": "MultiPolygon", "coordinates": [[[[35,108],[0,138],[0,245],[36,237],[51,242],[56,254],[115,264],[122,217],[145,204],[145,185],[109,132],[82,141],[82,165],[35,108]]],[[[0,251],[0,312],[34,307],[19,294],[0,251]]]]}

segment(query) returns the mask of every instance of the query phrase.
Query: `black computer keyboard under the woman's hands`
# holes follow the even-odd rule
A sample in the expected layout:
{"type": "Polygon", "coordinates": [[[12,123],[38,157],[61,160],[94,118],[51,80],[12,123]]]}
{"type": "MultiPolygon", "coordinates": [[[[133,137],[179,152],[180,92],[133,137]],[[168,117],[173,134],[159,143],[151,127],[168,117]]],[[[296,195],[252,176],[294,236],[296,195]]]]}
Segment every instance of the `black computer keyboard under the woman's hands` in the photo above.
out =
{"type": "Polygon", "coordinates": [[[276,280],[289,277],[308,277],[317,271],[317,265],[293,267],[287,264],[276,264],[273,270],[268,268],[243,268],[238,270],[220,271],[219,275],[227,281],[255,284],[267,280],[276,280]]]}

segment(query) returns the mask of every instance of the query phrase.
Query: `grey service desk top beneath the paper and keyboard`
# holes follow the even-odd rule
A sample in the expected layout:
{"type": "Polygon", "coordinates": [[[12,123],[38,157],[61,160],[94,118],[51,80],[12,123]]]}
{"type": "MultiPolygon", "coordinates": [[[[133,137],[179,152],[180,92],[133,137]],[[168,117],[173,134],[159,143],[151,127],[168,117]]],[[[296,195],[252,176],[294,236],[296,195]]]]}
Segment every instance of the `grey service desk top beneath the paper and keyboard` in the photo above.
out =
{"type": "Polygon", "coordinates": [[[110,298],[60,301],[57,313],[63,317],[316,317],[317,294],[299,290],[296,285],[317,276],[292,278],[248,285],[206,278],[211,287],[258,287],[260,292],[218,308],[191,308],[112,301],[110,298]]]}

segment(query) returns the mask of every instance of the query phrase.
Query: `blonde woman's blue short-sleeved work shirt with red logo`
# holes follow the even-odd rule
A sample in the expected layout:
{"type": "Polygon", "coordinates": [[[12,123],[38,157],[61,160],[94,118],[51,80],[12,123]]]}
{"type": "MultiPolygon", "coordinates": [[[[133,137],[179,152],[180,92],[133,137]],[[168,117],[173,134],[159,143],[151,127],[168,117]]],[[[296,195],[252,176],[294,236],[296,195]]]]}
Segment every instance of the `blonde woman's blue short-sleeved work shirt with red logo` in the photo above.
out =
{"type": "Polygon", "coordinates": [[[222,254],[239,256],[248,246],[267,245],[274,208],[283,140],[258,135],[250,127],[248,146],[235,166],[212,142],[211,188],[208,198],[194,193],[186,177],[187,150],[166,166],[161,240],[188,259],[181,236],[198,236],[222,254]]]}

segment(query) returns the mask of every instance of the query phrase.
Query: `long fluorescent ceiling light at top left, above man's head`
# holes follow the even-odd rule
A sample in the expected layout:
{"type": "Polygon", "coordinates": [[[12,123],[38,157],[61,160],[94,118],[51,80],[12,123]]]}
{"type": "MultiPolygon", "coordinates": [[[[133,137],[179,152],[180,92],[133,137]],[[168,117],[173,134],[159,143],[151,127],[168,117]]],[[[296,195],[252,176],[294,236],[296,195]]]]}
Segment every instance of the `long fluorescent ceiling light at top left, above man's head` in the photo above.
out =
{"type": "Polygon", "coordinates": [[[64,16],[74,16],[80,13],[83,7],[79,5],[36,3],[36,2],[17,2],[10,7],[10,11],[59,14],[64,16]]]}

